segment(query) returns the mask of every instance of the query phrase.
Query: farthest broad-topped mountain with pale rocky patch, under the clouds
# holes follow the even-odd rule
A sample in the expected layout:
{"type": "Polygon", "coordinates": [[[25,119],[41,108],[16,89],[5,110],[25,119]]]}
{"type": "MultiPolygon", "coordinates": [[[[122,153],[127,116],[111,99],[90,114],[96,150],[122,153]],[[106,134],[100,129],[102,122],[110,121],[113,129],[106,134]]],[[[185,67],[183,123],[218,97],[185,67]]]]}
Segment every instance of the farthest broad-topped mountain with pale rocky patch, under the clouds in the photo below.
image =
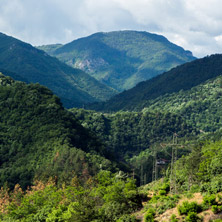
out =
{"type": "Polygon", "coordinates": [[[119,92],[195,59],[161,35],[138,31],[96,33],[39,48],[119,92]]]}

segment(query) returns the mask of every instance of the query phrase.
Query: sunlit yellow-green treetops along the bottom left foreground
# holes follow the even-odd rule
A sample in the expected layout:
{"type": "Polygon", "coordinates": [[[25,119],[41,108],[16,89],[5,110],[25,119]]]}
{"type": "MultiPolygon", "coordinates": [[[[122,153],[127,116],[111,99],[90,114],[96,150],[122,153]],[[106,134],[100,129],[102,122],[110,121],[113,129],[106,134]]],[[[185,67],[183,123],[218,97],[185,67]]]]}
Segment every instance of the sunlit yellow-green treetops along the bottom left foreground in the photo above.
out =
{"type": "Polygon", "coordinates": [[[84,186],[76,182],[61,188],[54,183],[39,182],[26,193],[18,195],[18,191],[13,191],[9,203],[3,206],[1,218],[23,222],[136,221],[129,216],[141,207],[134,180],[117,179],[111,172],[101,171],[84,186]],[[109,183],[104,184],[103,180],[100,183],[99,178],[109,183]]]}

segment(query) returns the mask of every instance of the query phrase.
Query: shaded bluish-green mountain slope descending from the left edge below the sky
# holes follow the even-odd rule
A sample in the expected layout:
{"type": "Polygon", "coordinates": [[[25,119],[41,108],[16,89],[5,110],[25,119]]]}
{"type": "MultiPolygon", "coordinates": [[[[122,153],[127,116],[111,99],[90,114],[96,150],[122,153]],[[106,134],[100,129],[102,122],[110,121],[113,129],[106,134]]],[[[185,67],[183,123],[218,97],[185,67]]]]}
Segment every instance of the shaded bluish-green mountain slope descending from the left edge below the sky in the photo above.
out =
{"type": "Polygon", "coordinates": [[[82,107],[85,103],[103,101],[115,94],[114,90],[85,72],[0,33],[0,71],[5,70],[9,75],[19,73],[28,82],[38,82],[49,87],[66,107],[82,107]]]}

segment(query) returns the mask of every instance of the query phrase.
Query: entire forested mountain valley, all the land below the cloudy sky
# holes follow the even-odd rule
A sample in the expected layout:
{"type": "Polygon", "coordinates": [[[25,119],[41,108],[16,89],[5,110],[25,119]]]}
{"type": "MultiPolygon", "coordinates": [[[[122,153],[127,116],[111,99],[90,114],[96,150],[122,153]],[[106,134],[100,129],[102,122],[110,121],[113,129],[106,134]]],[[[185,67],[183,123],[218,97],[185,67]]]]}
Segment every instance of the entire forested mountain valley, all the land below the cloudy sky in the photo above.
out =
{"type": "Polygon", "coordinates": [[[221,54],[0,34],[0,71],[0,221],[221,221],[221,54]]]}

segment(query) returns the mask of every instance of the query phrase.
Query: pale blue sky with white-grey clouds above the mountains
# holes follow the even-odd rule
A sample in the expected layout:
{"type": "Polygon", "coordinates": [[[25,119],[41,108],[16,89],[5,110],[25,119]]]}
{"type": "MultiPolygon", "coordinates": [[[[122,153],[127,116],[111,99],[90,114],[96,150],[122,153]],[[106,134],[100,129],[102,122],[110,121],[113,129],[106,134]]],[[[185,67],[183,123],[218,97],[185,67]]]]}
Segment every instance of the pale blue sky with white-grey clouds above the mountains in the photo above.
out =
{"type": "Polygon", "coordinates": [[[38,46],[147,31],[201,58],[222,53],[221,9],[222,0],[0,0],[0,32],[38,46]]]}

